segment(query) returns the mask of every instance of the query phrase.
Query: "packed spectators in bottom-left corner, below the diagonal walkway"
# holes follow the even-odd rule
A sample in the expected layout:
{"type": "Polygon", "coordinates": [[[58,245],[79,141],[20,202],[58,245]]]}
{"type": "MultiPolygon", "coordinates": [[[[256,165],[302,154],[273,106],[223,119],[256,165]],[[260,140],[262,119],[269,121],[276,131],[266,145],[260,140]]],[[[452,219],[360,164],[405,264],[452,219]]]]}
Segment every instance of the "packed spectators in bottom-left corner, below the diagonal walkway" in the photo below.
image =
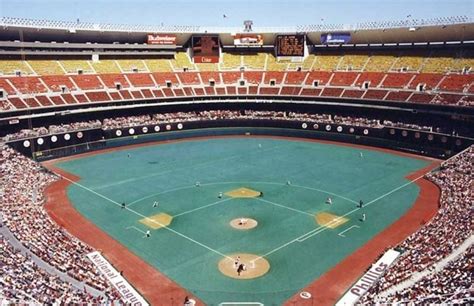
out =
{"type": "Polygon", "coordinates": [[[0,235],[0,294],[12,303],[53,305],[107,302],[40,268],[0,235]]]}

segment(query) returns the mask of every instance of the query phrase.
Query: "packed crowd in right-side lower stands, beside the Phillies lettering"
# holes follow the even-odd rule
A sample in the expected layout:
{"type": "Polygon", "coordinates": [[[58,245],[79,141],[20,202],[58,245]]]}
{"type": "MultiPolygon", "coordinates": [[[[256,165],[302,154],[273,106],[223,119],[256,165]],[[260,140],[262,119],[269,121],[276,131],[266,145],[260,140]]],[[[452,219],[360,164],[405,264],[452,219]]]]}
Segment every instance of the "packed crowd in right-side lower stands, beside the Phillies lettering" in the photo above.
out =
{"type": "MultiPolygon", "coordinates": [[[[439,171],[426,176],[441,189],[437,215],[399,245],[399,248],[404,250],[403,254],[379,282],[369,290],[363,301],[376,302],[379,293],[409,279],[416,272],[432,269],[435,263],[451,254],[472,235],[474,228],[472,218],[473,158],[474,146],[471,146],[463,153],[445,161],[439,171]]],[[[472,254],[472,252],[468,254],[472,254]]],[[[464,260],[461,259],[461,261],[464,260]]],[[[472,275],[472,259],[470,262],[468,272],[472,275]]],[[[446,273],[452,276],[453,282],[456,282],[457,279],[463,278],[466,271],[451,269],[446,273]]],[[[442,281],[445,279],[443,274],[427,278],[421,284],[416,284],[416,287],[396,294],[392,296],[393,300],[386,302],[396,302],[399,298],[417,299],[420,296],[440,296],[453,293],[452,291],[458,287],[455,287],[454,283],[449,286],[441,286],[445,284],[442,281]],[[433,280],[433,285],[427,286],[427,282],[431,280],[433,280]]]]}

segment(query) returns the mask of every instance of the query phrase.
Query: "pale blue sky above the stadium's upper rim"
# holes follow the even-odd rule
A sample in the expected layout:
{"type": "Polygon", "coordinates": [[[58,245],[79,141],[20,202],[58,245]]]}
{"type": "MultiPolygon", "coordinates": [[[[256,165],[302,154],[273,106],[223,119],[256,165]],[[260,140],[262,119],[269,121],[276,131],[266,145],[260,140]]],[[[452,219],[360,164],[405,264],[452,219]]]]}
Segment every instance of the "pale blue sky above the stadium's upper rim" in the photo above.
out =
{"type": "Polygon", "coordinates": [[[141,25],[354,24],[410,15],[473,17],[474,0],[0,0],[0,16],[141,25]]]}

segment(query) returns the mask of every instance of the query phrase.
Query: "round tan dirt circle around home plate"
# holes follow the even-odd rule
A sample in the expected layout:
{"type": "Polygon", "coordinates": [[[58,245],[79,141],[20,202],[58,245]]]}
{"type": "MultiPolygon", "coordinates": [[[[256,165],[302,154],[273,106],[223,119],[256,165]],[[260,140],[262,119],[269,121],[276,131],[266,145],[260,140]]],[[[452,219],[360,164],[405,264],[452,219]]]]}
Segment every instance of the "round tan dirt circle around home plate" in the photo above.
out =
{"type": "Polygon", "coordinates": [[[265,275],[270,270],[270,263],[265,258],[254,254],[236,253],[221,259],[218,267],[225,276],[235,279],[253,279],[265,275]],[[239,264],[245,266],[240,275],[237,273],[239,264]]]}

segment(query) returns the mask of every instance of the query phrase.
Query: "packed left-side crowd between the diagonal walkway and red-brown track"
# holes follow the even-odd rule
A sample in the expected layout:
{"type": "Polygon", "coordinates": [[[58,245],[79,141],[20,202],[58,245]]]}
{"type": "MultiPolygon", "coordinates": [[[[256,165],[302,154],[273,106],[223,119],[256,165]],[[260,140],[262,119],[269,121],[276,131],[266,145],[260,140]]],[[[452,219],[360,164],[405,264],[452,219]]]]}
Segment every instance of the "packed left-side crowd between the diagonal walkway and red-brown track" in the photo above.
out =
{"type": "Polygon", "coordinates": [[[39,164],[3,146],[0,150],[3,222],[44,262],[113,298],[116,291],[85,256],[93,250],[53,222],[44,210],[43,191],[55,180],[55,175],[39,164]]]}

